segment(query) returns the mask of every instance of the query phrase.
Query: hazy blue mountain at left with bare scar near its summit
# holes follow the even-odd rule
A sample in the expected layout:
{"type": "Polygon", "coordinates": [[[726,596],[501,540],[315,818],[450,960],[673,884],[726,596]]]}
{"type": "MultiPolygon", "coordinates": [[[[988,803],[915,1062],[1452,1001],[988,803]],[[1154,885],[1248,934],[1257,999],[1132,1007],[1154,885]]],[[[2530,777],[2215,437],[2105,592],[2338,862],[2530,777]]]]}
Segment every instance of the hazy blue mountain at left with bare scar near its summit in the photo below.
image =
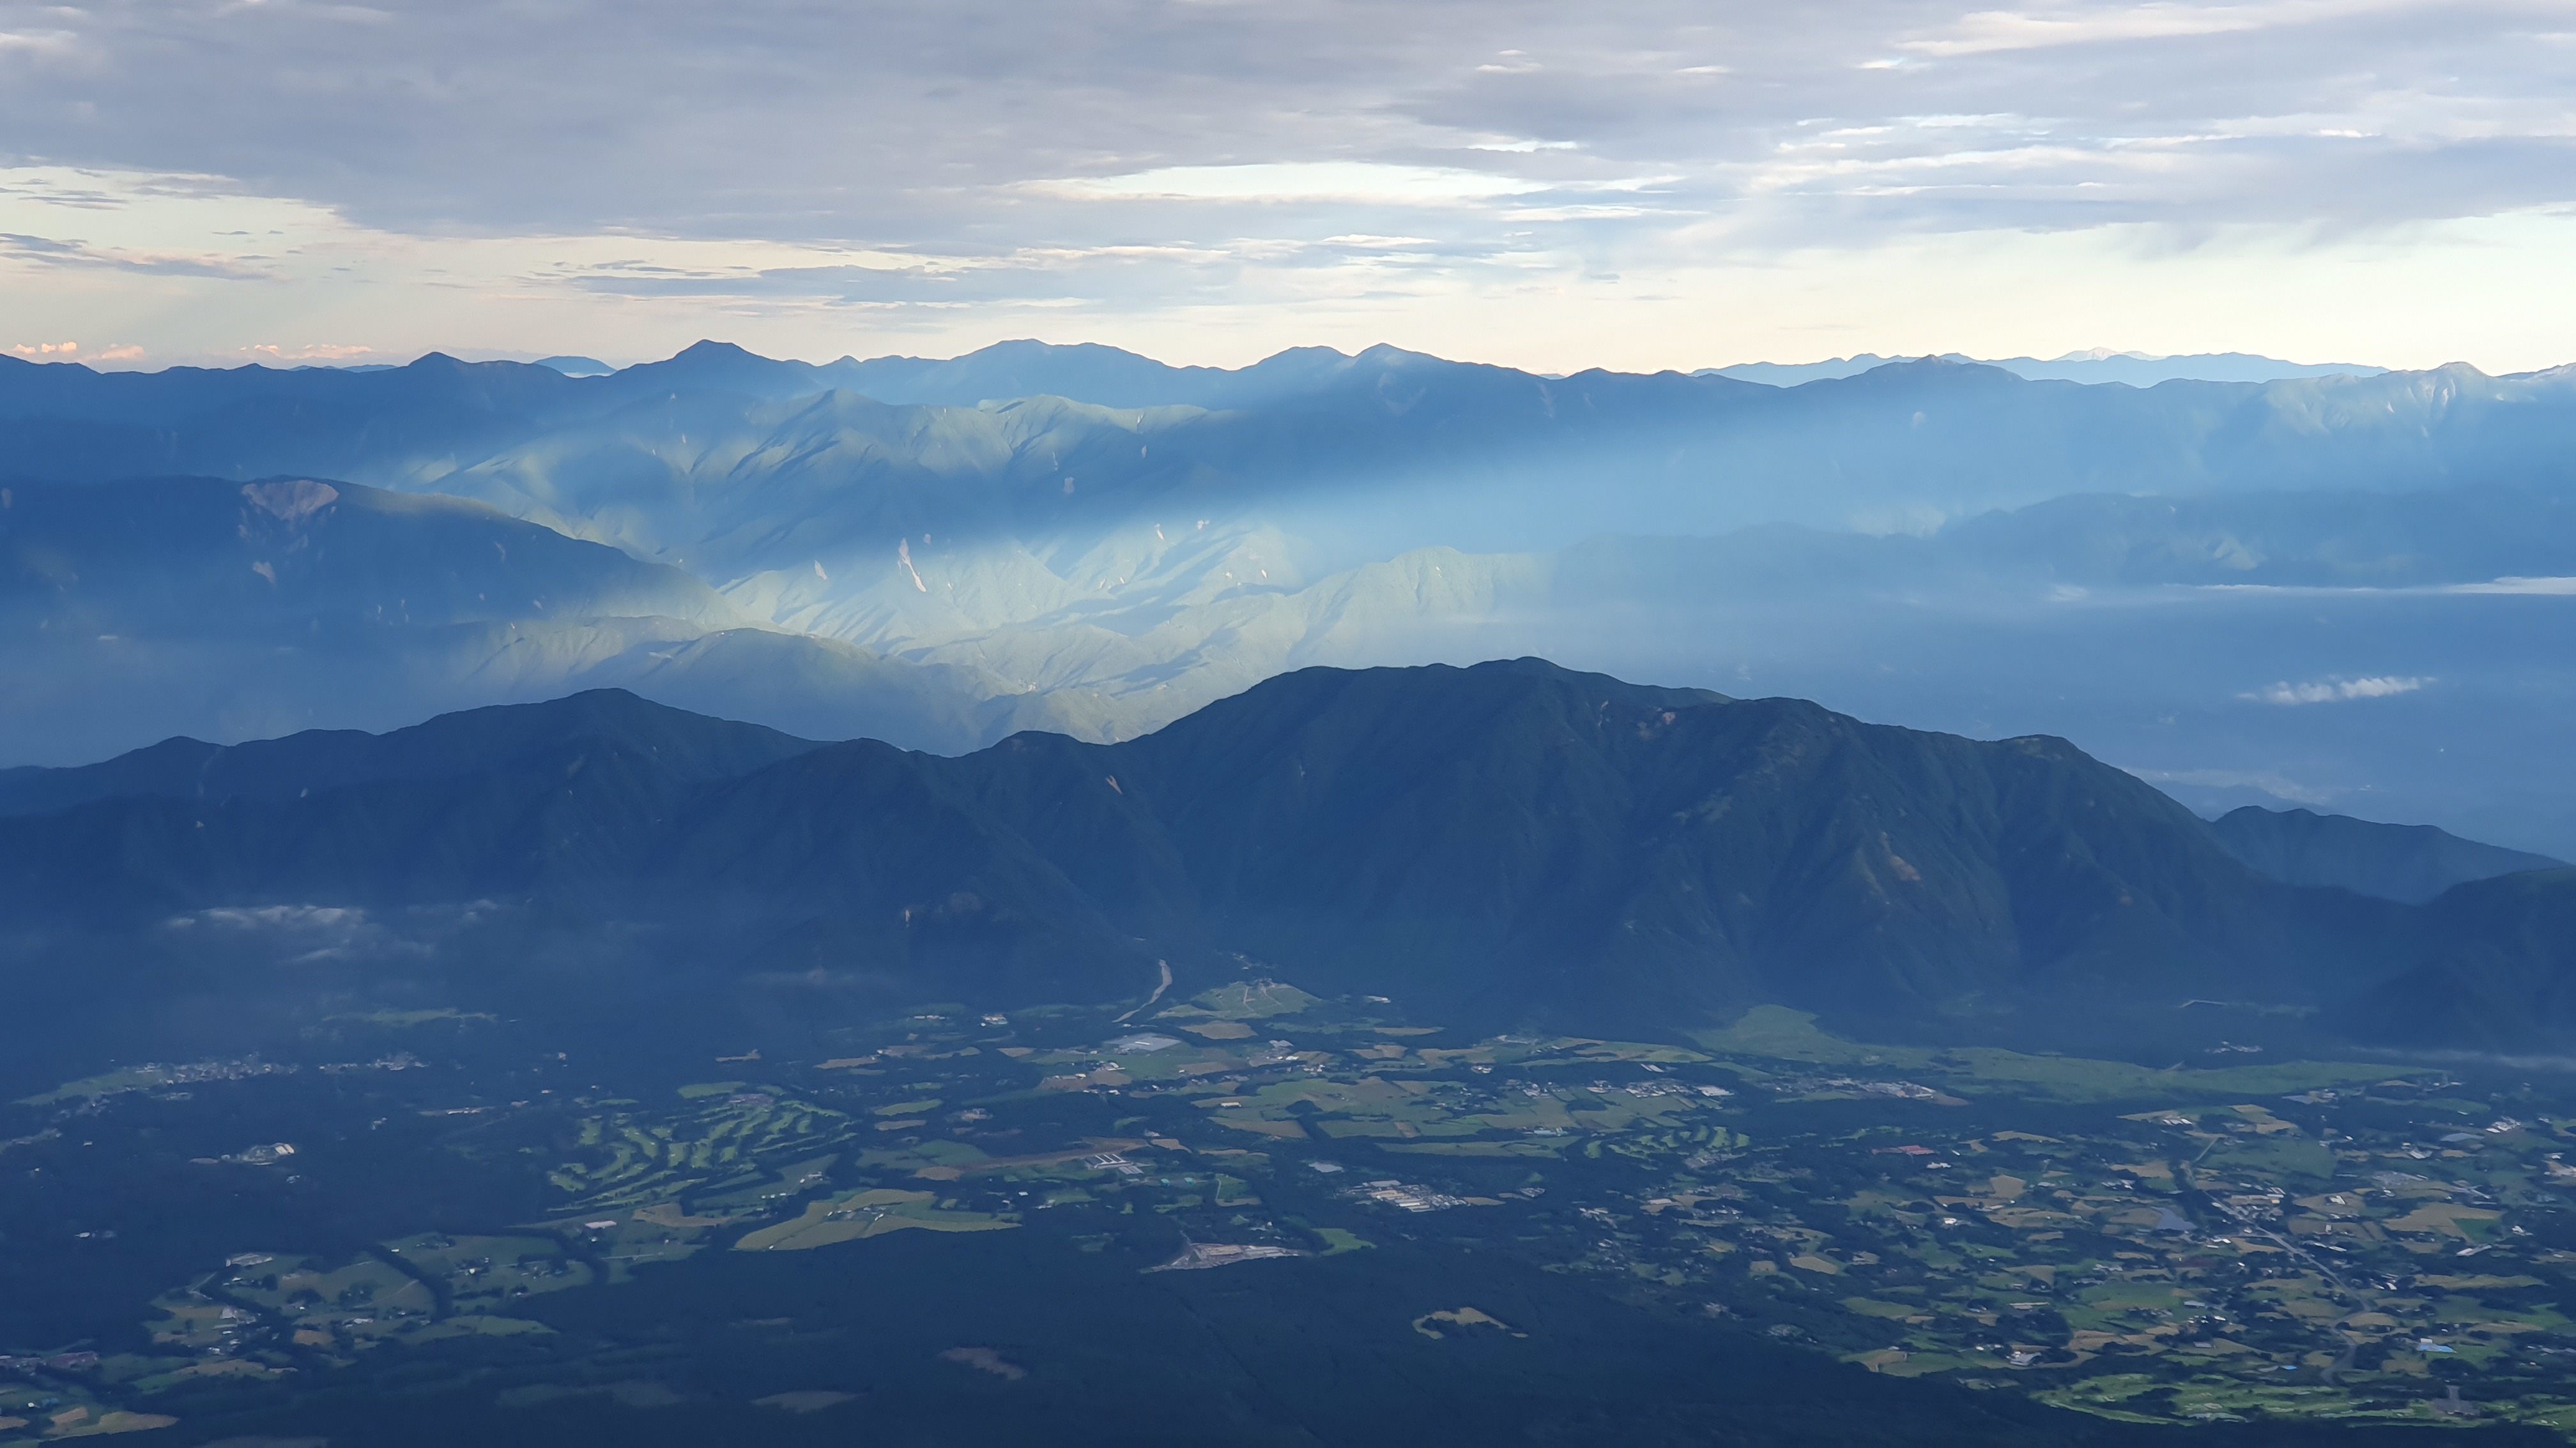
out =
{"type": "Polygon", "coordinates": [[[456,497],[314,479],[0,492],[0,739],[82,757],[389,727],[626,685],[827,737],[969,750],[1090,724],[974,667],[788,634],[670,564],[456,497]]]}

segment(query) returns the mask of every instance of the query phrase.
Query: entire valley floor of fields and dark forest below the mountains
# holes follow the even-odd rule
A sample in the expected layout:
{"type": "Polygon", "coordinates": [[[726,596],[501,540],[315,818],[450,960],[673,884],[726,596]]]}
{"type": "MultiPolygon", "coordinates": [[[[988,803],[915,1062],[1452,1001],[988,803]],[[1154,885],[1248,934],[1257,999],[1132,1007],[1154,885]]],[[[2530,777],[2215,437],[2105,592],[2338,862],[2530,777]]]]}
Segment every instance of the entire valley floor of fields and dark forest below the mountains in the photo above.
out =
{"type": "MultiPolygon", "coordinates": [[[[1662,1355],[1772,1363],[1808,1402],[1886,1384],[1839,1412],[1924,1440],[2576,1427],[2561,1082],[1873,1049],[1785,1010],[1695,1046],[1468,1041],[1278,982],[1131,1015],[930,1007],[824,1059],[611,1082],[425,1010],[343,1018],[307,1062],[67,1082],[0,1141],[5,1332],[39,1335],[0,1358],[0,1443],[345,1422],[397,1381],[438,1415],[582,1409],[641,1440],[1007,1417],[984,1399],[1103,1353],[1159,1381],[1079,1317],[1172,1291],[1355,1311],[1489,1404],[1546,1350],[1566,1378],[1540,1412],[1628,1384],[1620,1433],[1677,1440],[1700,1409],[1662,1355]],[[914,1314],[920,1273],[981,1283],[961,1340],[863,1345],[889,1327],[853,1311],[914,1314]],[[858,1296],[778,1301],[819,1281],[858,1296]],[[672,1337],[708,1322],[724,1342],[672,1337]]],[[[1278,1363],[1244,1371],[1164,1407],[1221,1440],[1327,1427],[1262,1386],[1278,1363]]],[[[1762,1412],[1798,1438],[1795,1402],[1762,1412]]],[[[1368,1422],[1324,1438],[1396,1420],[1368,1422]]]]}

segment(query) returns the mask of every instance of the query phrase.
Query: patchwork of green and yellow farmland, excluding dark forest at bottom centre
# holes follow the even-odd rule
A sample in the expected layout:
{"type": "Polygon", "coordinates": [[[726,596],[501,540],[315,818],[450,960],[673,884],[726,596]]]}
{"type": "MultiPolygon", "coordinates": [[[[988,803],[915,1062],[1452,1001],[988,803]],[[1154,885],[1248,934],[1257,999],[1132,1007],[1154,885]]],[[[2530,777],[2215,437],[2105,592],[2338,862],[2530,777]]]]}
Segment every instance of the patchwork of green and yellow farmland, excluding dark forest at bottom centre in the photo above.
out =
{"type": "MultiPolygon", "coordinates": [[[[1069,1252],[1136,1242],[1136,1270],[1473,1252],[1852,1373],[2115,1420],[2576,1430],[2576,1090],[2548,1080],[1911,1051],[1793,1013],[1690,1043],[1466,1038],[1280,982],[1131,1018],[925,1010],[806,1062],[737,1054],[734,1080],[556,1090],[526,1085],[562,1080],[533,1059],[404,1056],[361,1087],[348,1067],[224,1062],[188,1072],[188,1100],[149,1090],[167,1069],[59,1095],[82,1113],[62,1123],[93,1134],[227,1090],[319,1110],[309,1092],[340,1082],[374,1113],[350,1139],[412,1131],[487,1206],[361,1247],[245,1232],[165,1278],[124,1350],[0,1394],[95,1425],[440,1345],[551,1360],[580,1355],[559,1306],[683,1262],[750,1270],[889,1237],[984,1250],[969,1244],[1043,1226],[1069,1252]]],[[[340,1167],[317,1141],[191,1170],[330,1190],[340,1167]]],[[[1396,1327],[1522,1332],[1486,1306],[1435,1301],[1396,1327]]]]}

